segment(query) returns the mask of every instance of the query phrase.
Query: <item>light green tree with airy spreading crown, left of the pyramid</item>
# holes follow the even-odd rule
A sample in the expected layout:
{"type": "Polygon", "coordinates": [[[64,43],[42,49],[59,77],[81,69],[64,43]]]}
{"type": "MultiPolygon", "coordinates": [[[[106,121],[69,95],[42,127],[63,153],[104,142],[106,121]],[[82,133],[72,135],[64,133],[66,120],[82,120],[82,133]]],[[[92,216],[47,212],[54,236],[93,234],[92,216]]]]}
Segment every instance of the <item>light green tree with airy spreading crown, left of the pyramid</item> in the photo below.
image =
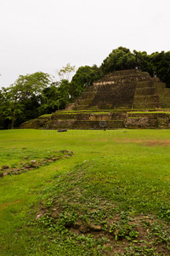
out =
{"type": "Polygon", "coordinates": [[[20,75],[14,84],[4,90],[5,109],[3,112],[7,119],[11,119],[12,129],[16,115],[23,113],[23,101],[31,98],[31,96],[40,95],[50,81],[51,78],[48,73],[37,72],[26,76],[20,75]]]}

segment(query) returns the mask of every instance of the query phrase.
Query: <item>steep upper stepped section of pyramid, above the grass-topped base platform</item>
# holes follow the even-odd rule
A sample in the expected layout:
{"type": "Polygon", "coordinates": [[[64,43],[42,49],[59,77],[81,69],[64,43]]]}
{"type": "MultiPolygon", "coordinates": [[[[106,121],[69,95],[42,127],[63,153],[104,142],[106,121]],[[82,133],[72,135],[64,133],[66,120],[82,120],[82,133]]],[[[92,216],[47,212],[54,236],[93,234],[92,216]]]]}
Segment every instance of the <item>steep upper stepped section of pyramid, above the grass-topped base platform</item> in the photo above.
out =
{"type": "Polygon", "coordinates": [[[170,108],[170,90],[139,70],[115,71],[89,86],[67,110],[170,108]]]}

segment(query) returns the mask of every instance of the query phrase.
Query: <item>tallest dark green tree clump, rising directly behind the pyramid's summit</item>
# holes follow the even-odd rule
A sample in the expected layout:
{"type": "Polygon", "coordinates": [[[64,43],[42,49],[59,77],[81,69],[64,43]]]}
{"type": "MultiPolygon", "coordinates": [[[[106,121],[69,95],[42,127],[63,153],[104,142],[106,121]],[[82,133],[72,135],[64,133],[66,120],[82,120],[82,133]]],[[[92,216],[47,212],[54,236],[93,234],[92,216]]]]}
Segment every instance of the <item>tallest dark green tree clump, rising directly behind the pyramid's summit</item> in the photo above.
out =
{"type": "Polygon", "coordinates": [[[148,72],[150,76],[161,79],[170,87],[170,51],[161,51],[147,55],[145,51],[133,50],[119,47],[113,49],[111,54],[105,58],[101,65],[104,74],[116,70],[137,68],[141,71],[148,72]]]}

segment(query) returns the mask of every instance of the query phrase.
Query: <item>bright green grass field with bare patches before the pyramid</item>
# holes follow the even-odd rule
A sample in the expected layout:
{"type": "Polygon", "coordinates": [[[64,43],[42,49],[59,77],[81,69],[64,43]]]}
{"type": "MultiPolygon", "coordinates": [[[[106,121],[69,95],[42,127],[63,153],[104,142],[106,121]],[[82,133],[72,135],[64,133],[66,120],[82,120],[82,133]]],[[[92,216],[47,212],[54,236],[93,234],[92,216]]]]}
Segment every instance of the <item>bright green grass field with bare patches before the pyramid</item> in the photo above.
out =
{"type": "Polygon", "coordinates": [[[170,255],[170,131],[0,131],[0,169],[59,150],[0,177],[0,255],[170,255]]]}

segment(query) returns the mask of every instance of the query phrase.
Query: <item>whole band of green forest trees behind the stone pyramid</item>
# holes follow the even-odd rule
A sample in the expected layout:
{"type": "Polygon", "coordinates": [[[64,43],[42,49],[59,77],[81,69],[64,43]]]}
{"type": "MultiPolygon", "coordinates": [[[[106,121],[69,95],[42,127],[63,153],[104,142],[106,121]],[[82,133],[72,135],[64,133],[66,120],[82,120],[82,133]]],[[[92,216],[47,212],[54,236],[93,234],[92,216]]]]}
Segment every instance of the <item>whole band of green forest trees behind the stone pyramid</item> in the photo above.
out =
{"type": "Polygon", "coordinates": [[[67,64],[59,71],[59,81],[53,81],[48,73],[37,72],[20,77],[7,88],[0,90],[0,129],[19,127],[21,123],[35,119],[44,113],[64,109],[95,80],[116,70],[136,68],[161,79],[170,88],[170,51],[148,55],[119,47],[113,49],[100,67],[79,67],[69,81],[75,67],[67,64]]]}

